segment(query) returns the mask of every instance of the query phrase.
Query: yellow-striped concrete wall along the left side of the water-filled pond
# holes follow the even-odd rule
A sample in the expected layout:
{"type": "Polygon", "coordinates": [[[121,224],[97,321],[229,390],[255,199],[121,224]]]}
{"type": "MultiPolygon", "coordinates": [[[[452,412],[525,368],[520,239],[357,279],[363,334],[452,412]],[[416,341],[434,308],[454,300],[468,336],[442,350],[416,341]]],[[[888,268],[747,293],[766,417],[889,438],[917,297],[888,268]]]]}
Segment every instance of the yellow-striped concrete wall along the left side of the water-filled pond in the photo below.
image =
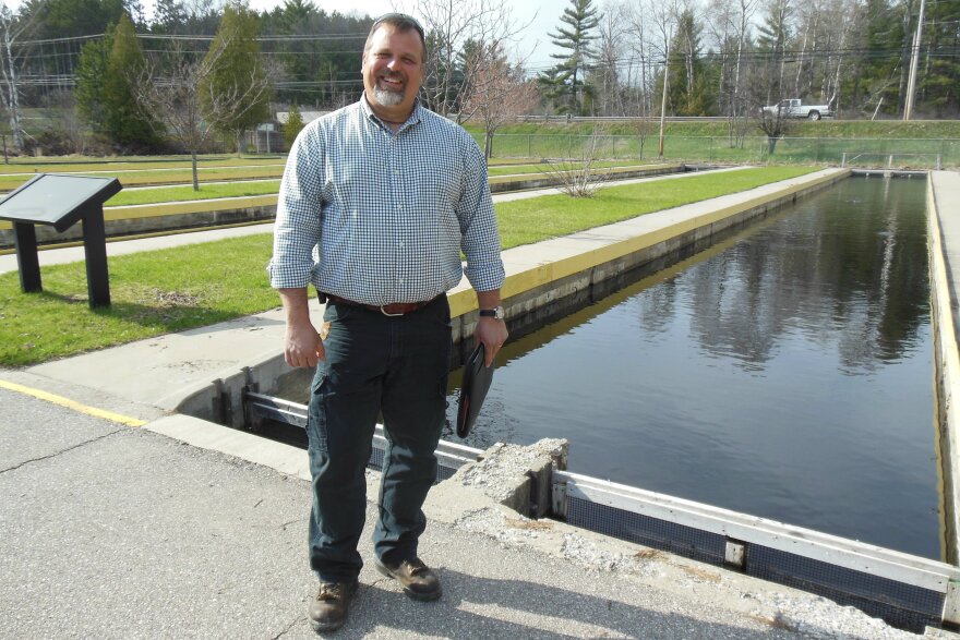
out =
{"type": "MultiPolygon", "coordinates": [[[[721,231],[763,218],[849,174],[845,169],[827,169],[744,194],[508,250],[504,252],[507,279],[502,295],[511,331],[516,337],[539,328],[620,288],[632,271],[645,265],[652,265],[673,252],[708,244],[721,231]],[[637,220],[650,229],[636,232],[633,226],[637,220]],[[563,255],[554,251],[556,245],[565,247],[563,255]]],[[[461,363],[464,354],[472,348],[478,319],[476,293],[466,279],[449,293],[449,303],[454,318],[453,367],[461,363]]],[[[284,363],[283,355],[276,355],[251,363],[248,371],[227,376],[216,385],[202,387],[176,410],[242,426],[244,387],[255,386],[260,393],[277,395],[287,384],[305,384],[302,376],[302,372],[291,371],[284,363]]]]}

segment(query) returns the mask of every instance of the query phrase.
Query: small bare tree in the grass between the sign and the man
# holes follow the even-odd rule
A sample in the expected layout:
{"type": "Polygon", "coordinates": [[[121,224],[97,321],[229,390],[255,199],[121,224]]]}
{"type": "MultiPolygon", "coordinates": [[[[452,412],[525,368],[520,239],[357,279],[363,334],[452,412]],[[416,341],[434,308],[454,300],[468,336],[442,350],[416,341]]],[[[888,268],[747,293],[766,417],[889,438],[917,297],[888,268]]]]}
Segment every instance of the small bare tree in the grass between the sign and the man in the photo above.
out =
{"type": "MultiPolygon", "coordinates": [[[[200,191],[196,154],[211,133],[215,129],[223,129],[228,119],[235,119],[260,104],[263,95],[269,90],[266,82],[209,82],[227,45],[227,40],[215,41],[215,48],[201,60],[182,50],[175,50],[168,57],[169,62],[166,65],[161,67],[157,60],[151,60],[140,75],[130,79],[137,107],[161,124],[168,136],[190,152],[194,191],[200,191]]],[[[262,64],[262,60],[257,58],[254,77],[271,76],[269,72],[260,72],[262,64]]]]}

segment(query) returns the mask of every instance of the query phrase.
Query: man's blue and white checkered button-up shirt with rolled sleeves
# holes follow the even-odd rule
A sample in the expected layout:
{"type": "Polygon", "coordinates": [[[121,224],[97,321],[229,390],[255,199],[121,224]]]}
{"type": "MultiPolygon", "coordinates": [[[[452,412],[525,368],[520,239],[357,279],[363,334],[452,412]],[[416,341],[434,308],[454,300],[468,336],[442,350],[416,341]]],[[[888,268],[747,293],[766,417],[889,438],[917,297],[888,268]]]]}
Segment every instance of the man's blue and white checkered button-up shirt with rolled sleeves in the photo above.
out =
{"type": "Polygon", "coordinates": [[[267,268],[275,288],[312,282],[376,305],[430,300],[465,270],[476,290],[500,289],[500,237],[477,143],[419,102],[396,133],[365,98],[311,122],[280,182],[267,268]]]}

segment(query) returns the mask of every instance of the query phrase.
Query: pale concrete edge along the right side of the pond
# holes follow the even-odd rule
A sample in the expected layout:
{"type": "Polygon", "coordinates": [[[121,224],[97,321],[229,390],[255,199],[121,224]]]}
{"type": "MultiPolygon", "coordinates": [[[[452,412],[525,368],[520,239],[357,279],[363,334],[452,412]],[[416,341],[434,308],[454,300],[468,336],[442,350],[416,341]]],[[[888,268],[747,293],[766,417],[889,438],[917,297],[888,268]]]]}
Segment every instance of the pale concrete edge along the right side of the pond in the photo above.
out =
{"type": "Polygon", "coordinates": [[[960,398],[960,354],[958,354],[957,323],[949,283],[946,251],[940,230],[940,212],[937,198],[938,172],[932,171],[927,180],[927,243],[931,269],[931,322],[934,336],[934,403],[937,425],[937,462],[944,483],[944,530],[947,550],[946,560],[958,565],[956,550],[960,548],[960,469],[953,463],[960,452],[958,443],[957,406],[960,398]],[[951,552],[952,550],[952,552],[951,552]]]}

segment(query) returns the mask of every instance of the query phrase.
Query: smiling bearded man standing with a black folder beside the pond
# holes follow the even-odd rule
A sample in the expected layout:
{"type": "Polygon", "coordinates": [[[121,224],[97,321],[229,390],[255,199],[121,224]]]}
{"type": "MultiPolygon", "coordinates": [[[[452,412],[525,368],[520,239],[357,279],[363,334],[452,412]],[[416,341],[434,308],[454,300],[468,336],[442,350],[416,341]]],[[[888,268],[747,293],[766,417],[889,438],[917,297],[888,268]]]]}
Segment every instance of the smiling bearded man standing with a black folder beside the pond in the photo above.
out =
{"type": "Polygon", "coordinates": [[[374,22],[363,97],[307,125],[280,184],[268,268],[286,312],[284,353],[291,366],[316,366],[307,432],[310,565],[321,581],[308,613],[317,631],[344,624],[357,591],[364,468],[379,414],[387,448],[375,567],[410,597],[441,595],[417,543],[446,415],[446,291],[464,274],[461,251],[488,364],[507,338],[487,166],[466,131],[417,100],[424,58],[423,29],[412,17],[374,22]],[[308,312],[309,282],[326,300],[320,335],[308,312]]]}

